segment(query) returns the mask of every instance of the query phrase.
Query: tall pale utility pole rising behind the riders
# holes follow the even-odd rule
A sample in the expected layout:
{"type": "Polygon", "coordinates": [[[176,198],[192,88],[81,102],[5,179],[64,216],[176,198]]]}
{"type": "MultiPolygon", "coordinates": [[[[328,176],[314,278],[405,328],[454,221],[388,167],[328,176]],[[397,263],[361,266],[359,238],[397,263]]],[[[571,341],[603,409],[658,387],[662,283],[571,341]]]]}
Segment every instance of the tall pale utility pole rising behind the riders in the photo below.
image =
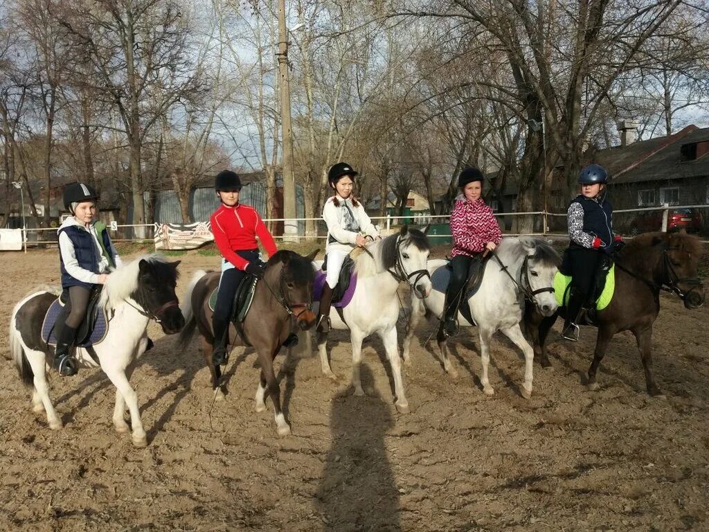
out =
{"type": "Polygon", "coordinates": [[[284,240],[297,240],[296,181],[293,174],[293,139],[291,138],[291,86],[288,79],[288,28],[286,0],[278,0],[278,70],[281,90],[281,139],[283,141],[283,217],[284,240]]]}

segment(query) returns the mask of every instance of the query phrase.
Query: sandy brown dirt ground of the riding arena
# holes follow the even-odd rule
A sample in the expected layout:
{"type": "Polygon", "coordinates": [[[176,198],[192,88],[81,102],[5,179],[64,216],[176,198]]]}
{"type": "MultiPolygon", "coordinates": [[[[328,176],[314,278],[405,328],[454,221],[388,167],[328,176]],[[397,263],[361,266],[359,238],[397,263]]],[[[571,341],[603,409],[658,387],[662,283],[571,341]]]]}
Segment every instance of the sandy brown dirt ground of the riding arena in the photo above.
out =
{"type": "MultiPolygon", "coordinates": [[[[216,257],[189,252],[178,294],[216,257]]],[[[0,350],[13,304],[57,283],[56,250],[0,255],[0,350]]],[[[114,388],[98,370],[52,381],[65,423],[50,431],[0,358],[0,530],[32,531],[674,531],[709,530],[709,305],[662,297],[654,370],[666,399],[644,392],[630,333],[606,356],[601,390],[581,375],[595,331],[550,347],[535,392],[520,397],[521,354],[496,337],[491,382],[479,388],[478,340],[459,337],[453,381],[425,325],[404,382],[411,414],[392,404],[379,340],[364,346],[367,397],[348,387],[351,350],[333,335],[337,383],[318,358],[281,367],[293,435],[255,414],[255,353],[237,348],[229,394],[213,404],[194,341],[151,324],[155,349],[133,375],[147,448],[113,431],[114,388]]],[[[558,325],[557,325],[558,328],[558,325]]],[[[400,334],[403,320],[400,321],[400,334]]],[[[282,359],[279,358],[282,361],[282,359]]]]}

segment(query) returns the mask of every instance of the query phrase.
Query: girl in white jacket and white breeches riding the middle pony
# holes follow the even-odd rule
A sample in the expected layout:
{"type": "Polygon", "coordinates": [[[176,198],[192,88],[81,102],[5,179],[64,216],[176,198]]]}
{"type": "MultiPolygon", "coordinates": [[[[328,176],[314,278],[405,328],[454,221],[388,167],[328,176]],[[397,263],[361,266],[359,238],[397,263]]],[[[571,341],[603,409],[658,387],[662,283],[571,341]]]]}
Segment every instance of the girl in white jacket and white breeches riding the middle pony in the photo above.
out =
{"type": "Polygon", "coordinates": [[[333,289],[340,277],[342,262],[355,247],[363,247],[367,237],[379,238],[372,220],[364,212],[364,206],[352,194],[357,174],[347,162],[337,162],[328,172],[328,182],[335,195],[330,196],[323,207],[323,218],[328,226],[328,244],[325,248],[328,271],[318,311],[318,333],[322,334],[330,331],[330,303],[333,301],[333,289]]]}

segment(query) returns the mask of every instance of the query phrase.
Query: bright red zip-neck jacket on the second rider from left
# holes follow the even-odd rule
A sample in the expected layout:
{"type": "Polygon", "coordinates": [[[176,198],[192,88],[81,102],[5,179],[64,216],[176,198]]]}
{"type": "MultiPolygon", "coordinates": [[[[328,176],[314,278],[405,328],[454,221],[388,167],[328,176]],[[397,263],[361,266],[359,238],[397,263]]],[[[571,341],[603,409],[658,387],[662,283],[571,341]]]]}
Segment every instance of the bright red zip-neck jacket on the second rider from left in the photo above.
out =
{"type": "Polygon", "coordinates": [[[228,207],[221,204],[219,209],[209,217],[214,235],[214,243],[226,260],[239,270],[245,270],[249,263],[235,251],[255,250],[259,246],[256,237],[266,248],[266,253],[272,257],[276,253],[276,243],[264,225],[256,209],[248,205],[236,204],[228,207]]]}

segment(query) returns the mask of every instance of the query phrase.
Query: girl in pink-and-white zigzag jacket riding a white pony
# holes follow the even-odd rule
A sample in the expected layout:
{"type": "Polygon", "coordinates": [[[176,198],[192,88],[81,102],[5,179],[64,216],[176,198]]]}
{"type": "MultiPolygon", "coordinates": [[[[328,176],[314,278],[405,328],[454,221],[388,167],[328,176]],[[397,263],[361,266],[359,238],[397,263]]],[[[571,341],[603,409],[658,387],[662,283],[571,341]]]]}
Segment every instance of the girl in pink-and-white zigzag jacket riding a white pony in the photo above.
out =
{"type": "Polygon", "coordinates": [[[467,167],[458,177],[461,195],[456,198],[450,215],[453,235],[451,276],[446,290],[442,331],[451,336],[457,331],[456,316],[467,279],[476,274],[482,257],[493,251],[502,240],[500,226],[492,209],[482,198],[484,176],[480,170],[467,167]]]}

